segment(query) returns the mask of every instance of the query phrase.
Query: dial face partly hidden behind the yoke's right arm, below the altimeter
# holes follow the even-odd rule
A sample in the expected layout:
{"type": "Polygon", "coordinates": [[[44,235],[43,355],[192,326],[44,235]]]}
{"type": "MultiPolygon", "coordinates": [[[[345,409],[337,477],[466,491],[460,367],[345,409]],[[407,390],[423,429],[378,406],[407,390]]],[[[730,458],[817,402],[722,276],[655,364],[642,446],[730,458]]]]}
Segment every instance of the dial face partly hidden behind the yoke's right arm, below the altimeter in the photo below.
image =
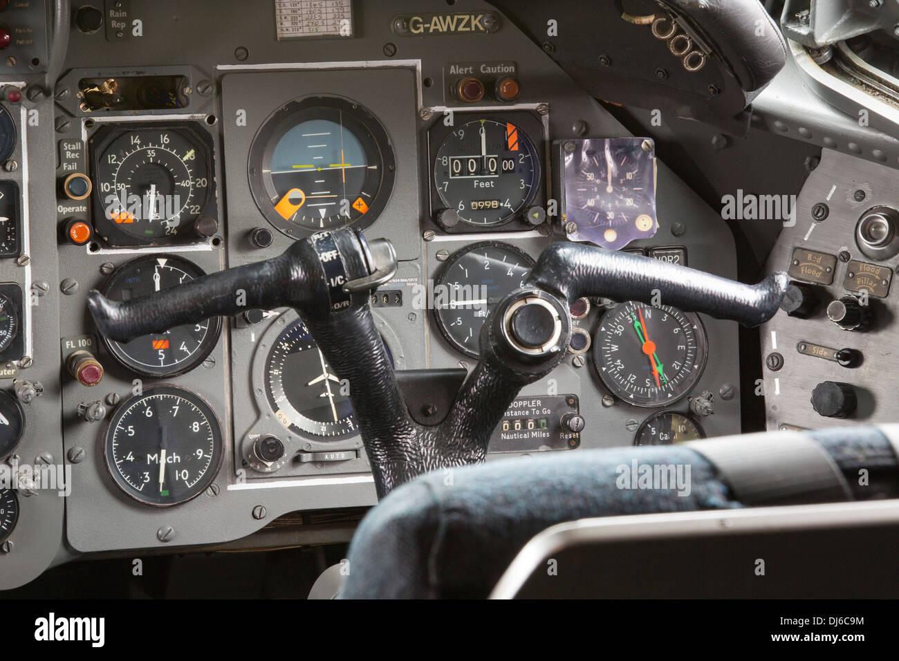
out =
{"type": "Polygon", "coordinates": [[[433,291],[434,317],[449,344],[477,358],[487,314],[524,285],[533,266],[534,260],[520,249],[495,241],[451,255],[433,291]]]}

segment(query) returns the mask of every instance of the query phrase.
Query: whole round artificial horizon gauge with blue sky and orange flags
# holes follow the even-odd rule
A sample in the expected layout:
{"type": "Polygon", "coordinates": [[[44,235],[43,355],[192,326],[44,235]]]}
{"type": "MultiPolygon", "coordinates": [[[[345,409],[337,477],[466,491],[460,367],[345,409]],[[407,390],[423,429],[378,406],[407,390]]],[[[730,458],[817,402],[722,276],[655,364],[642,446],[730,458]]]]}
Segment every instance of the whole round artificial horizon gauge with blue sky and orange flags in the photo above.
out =
{"type": "Polygon", "coordinates": [[[248,172],[256,206],[284,234],[369,227],[393,191],[387,131],[359,103],[312,96],[284,104],[256,134],[248,172]]]}

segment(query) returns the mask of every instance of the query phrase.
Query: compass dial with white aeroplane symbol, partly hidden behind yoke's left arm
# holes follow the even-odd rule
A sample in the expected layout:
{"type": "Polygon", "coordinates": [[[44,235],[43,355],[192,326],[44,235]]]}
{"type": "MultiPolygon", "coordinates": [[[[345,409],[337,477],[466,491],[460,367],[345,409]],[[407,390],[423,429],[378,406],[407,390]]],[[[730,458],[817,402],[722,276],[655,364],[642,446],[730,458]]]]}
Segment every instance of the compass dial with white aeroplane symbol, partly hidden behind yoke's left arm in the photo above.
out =
{"type": "MultiPolygon", "coordinates": [[[[389,350],[387,358],[393,362],[389,350]]],[[[338,441],[359,431],[346,384],[325,361],[302,319],[289,324],[271,346],[265,394],[278,422],[291,432],[338,441]]]]}

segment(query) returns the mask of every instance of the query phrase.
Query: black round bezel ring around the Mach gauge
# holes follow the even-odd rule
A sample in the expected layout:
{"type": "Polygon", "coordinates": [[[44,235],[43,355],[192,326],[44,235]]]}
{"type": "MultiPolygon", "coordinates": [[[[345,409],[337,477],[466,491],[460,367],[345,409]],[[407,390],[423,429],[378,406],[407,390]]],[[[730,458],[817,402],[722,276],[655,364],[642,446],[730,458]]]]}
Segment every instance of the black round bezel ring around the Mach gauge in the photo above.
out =
{"type": "Polygon", "coordinates": [[[170,383],[152,386],[150,388],[144,389],[139,395],[132,395],[131,397],[124,399],[120,403],[120,405],[116,407],[115,411],[113,411],[109,422],[106,424],[106,427],[103,430],[102,439],[103,465],[106,467],[106,472],[109,474],[113,484],[115,484],[115,486],[118,487],[119,490],[125,494],[125,496],[129,496],[129,498],[137,501],[138,503],[141,503],[142,505],[150,505],[152,507],[165,508],[189,503],[191,500],[193,500],[197,496],[200,496],[200,494],[206,491],[209,485],[215,481],[215,479],[218,477],[218,472],[221,470],[222,464],[225,461],[225,437],[222,432],[221,420],[218,418],[216,410],[212,407],[211,404],[209,404],[209,401],[206,399],[206,397],[203,397],[202,395],[200,395],[200,393],[195,392],[194,390],[181,388],[180,386],[174,386],[170,383]],[[195,493],[191,493],[190,496],[172,501],[171,503],[156,503],[147,498],[142,498],[139,493],[136,493],[134,491],[134,487],[132,487],[129,482],[121,476],[120,472],[112,466],[112,464],[114,463],[114,458],[111,450],[111,432],[115,429],[117,422],[129,410],[130,406],[134,406],[134,404],[141,399],[159,394],[171,394],[176,397],[187,399],[191,401],[191,404],[197,406],[197,408],[199,408],[204,415],[206,415],[206,419],[209,421],[209,425],[212,428],[212,440],[216,453],[216,457],[214,457],[213,461],[209,463],[209,469],[207,469],[203,477],[200,478],[200,482],[198,482],[197,485],[195,485],[191,489],[192,491],[195,491],[195,493]]]}

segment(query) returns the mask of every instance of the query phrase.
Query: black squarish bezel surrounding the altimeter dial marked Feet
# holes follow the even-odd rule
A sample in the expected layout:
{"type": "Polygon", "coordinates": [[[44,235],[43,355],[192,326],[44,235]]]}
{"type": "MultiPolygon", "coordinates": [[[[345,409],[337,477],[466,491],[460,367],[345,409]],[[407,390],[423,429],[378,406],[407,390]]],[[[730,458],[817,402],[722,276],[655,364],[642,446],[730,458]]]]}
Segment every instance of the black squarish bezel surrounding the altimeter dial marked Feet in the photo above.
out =
{"type": "MultiPolygon", "coordinates": [[[[460,115],[457,114],[457,117],[460,117],[460,115]]],[[[430,178],[432,217],[435,219],[439,219],[441,210],[458,210],[458,200],[456,200],[453,204],[451,201],[448,201],[444,197],[443,193],[440,190],[437,175],[437,164],[438,159],[440,158],[441,149],[447,144],[449,138],[452,137],[453,131],[462,129],[468,124],[473,124],[481,120],[492,121],[498,124],[512,123],[515,125],[515,127],[519,130],[520,142],[528,147],[528,149],[530,150],[531,158],[533,159],[535,174],[534,183],[531,186],[528,196],[523,201],[521,201],[521,206],[516,210],[512,210],[506,218],[501,218],[491,223],[475,223],[471,222],[470,220],[460,218],[456,226],[451,228],[444,228],[448,232],[495,231],[497,228],[502,228],[509,225],[513,220],[523,219],[526,211],[530,209],[530,207],[535,203],[541,203],[544,197],[542,194],[544,182],[543,150],[539,148],[539,145],[542,145],[543,132],[541,128],[542,125],[539,123],[539,121],[534,120],[534,118],[531,117],[527,112],[508,112],[504,113],[503,115],[494,115],[493,113],[472,114],[470,116],[465,116],[463,121],[455,123],[453,126],[450,126],[449,129],[442,130],[439,133],[439,138],[437,138],[436,133],[435,135],[432,135],[431,157],[429,158],[429,166],[431,168],[430,178]],[[540,131],[539,143],[535,142],[531,137],[531,135],[537,130],[540,131]]],[[[437,126],[438,125],[435,125],[432,131],[436,131],[437,126]]],[[[440,126],[442,126],[442,122],[440,126]]],[[[530,224],[529,227],[531,227],[530,224]]]]}

